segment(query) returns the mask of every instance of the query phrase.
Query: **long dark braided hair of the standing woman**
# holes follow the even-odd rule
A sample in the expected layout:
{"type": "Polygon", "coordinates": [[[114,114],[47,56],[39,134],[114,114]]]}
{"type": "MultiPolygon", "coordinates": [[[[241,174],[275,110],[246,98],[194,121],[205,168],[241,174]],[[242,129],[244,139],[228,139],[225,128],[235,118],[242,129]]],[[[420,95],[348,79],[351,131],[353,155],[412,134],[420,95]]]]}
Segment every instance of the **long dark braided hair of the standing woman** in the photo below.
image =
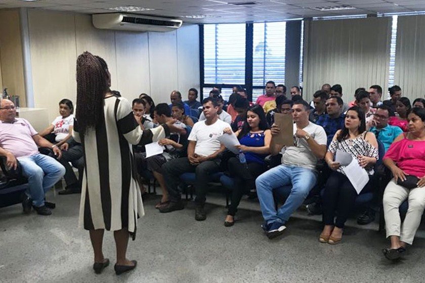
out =
{"type": "Polygon", "coordinates": [[[103,98],[109,91],[109,72],[105,60],[84,52],[77,59],[77,103],[75,118],[79,132],[96,127],[103,115],[103,98]]]}

